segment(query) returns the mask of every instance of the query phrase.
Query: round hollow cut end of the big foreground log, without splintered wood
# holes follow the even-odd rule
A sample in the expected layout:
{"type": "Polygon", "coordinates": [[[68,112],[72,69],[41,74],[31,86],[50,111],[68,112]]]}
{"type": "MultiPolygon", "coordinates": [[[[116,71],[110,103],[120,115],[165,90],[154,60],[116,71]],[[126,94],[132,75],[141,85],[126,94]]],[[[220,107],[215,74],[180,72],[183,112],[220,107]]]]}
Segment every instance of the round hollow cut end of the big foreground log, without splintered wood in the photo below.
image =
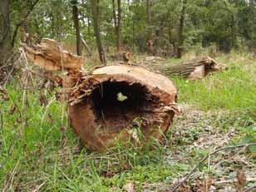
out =
{"type": "Polygon", "coordinates": [[[93,150],[116,140],[143,144],[151,137],[160,139],[179,110],[172,81],[138,66],[101,67],[81,85],[80,90],[91,91],[69,106],[71,126],[93,150]]]}

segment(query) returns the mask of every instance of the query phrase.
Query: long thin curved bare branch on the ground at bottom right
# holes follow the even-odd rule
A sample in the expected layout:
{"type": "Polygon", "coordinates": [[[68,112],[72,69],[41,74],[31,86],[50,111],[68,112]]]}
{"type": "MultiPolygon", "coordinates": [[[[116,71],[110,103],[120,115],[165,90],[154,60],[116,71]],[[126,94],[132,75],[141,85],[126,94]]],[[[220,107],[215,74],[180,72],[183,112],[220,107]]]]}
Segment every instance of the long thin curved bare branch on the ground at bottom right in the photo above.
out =
{"type": "Polygon", "coordinates": [[[183,180],[181,180],[177,185],[175,185],[175,187],[172,190],[170,190],[170,192],[175,192],[176,190],[178,190],[180,185],[182,185],[185,182],[185,180],[188,180],[190,178],[190,176],[194,174],[194,171],[197,170],[197,168],[199,168],[199,165],[201,165],[205,160],[207,160],[209,158],[209,156],[215,155],[216,153],[218,153],[221,150],[232,150],[235,148],[249,147],[251,145],[256,145],[256,143],[232,145],[232,146],[220,148],[218,150],[214,150],[213,152],[209,153],[209,155],[205,156],[202,160],[200,160],[199,163],[197,165],[195,165],[194,168],[190,171],[190,173],[188,175],[186,175],[185,178],[183,180]]]}

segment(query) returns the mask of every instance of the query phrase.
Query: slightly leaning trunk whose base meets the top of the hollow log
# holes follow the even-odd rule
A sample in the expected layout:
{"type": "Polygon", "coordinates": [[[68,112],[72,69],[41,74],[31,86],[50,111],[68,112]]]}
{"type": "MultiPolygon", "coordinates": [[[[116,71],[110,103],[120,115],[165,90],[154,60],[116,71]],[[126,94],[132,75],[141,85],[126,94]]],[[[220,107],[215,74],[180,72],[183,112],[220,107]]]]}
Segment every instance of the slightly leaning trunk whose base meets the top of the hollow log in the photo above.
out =
{"type": "Polygon", "coordinates": [[[101,32],[99,27],[99,0],[91,0],[92,5],[92,20],[93,20],[93,29],[94,35],[96,37],[96,43],[98,47],[99,57],[101,63],[106,65],[105,52],[101,42],[101,32]]]}

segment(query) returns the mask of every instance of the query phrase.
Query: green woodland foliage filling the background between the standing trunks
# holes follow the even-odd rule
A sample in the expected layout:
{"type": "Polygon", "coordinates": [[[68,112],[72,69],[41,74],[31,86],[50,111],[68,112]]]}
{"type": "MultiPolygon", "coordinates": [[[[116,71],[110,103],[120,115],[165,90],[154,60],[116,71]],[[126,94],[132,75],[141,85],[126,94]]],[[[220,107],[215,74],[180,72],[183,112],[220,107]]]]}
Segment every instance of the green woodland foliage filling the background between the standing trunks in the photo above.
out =
{"type": "MultiPolygon", "coordinates": [[[[24,20],[28,7],[33,1],[14,2],[12,6],[13,28],[24,20]],[[27,7],[27,9],[26,9],[27,7]]],[[[81,33],[89,47],[96,47],[92,27],[91,4],[89,1],[77,3],[81,33]]],[[[116,45],[116,34],[111,0],[100,1],[99,21],[101,39],[105,47],[116,45]]],[[[181,1],[151,1],[150,26],[156,50],[176,49],[180,25],[181,1]]],[[[229,52],[232,48],[256,47],[255,2],[245,0],[190,0],[185,10],[185,47],[194,45],[209,47],[215,43],[220,51],[229,52]]],[[[134,51],[146,50],[146,5],[145,1],[121,2],[121,44],[134,51]]],[[[71,2],[63,0],[40,0],[30,17],[31,34],[51,37],[71,44],[75,40],[72,23],[71,2]]]]}

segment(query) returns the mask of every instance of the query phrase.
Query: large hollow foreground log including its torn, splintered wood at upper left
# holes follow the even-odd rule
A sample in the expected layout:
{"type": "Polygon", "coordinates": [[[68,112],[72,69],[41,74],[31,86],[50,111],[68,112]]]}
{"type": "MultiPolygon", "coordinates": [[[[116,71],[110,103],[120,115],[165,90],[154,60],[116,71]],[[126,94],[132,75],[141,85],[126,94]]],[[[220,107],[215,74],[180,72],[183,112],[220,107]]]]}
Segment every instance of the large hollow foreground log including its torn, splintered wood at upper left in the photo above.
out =
{"type": "Polygon", "coordinates": [[[64,59],[57,42],[46,45],[47,41],[23,49],[37,66],[68,71],[66,76],[47,78],[62,79],[60,94],[66,94],[71,127],[91,149],[104,150],[116,141],[144,145],[151,138],[160,139],[180,112],[177,90],[169,78],[131,65],[103,66],[85,75],[77,62],[80,57],[66,52],[64,59]]]}

